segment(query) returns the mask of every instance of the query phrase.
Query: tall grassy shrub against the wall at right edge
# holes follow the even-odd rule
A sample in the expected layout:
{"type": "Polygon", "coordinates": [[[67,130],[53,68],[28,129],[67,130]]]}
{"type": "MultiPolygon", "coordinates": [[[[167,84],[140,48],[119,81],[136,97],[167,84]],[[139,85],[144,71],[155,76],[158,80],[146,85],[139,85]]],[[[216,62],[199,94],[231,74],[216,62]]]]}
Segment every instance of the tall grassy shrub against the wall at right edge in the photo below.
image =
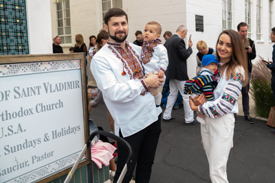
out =
{"type": "Polygon", "coordinates": [[[275,106],[275,100],[271,89],[271,71],[258,60],[253,64],[250,79],[250,94],[255,101],[255,112],[258,116],[268,118],[270,108],[275,106]]]}

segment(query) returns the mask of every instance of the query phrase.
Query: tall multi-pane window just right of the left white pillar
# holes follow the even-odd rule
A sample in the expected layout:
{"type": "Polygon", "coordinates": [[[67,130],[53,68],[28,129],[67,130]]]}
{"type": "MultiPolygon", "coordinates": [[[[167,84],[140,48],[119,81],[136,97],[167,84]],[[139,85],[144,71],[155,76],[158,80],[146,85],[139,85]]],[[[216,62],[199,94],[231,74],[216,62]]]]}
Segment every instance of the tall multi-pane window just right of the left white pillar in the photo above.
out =
{"type": "Polygon", "coordinates": [[[57,33],[62,44],[72,43],[69,0],[56,0],[57,33]]]}

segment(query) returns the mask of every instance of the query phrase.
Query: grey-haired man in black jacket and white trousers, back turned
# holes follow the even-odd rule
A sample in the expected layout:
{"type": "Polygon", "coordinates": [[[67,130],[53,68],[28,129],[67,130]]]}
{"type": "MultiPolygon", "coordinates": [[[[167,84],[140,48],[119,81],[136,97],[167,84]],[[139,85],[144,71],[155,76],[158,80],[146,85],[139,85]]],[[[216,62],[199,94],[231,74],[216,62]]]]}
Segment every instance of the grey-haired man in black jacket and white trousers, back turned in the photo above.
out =
{"type": "Polygon", "coordinates": [[[166,40],[165,47],[168,53],[169,64],[166,70],[166,78],[170,81],[170,95],[168,96],[166,110],[164,111],[163,121],[170,121],[175,119],[171,116],[172,108],[177,99],[177,92],[181,93],[184,99],[184,114],[185,124],[195,125],[199,124],[194,120],[194,112],[191,110],[189,105],[189,95],[184,94],[184,84],[186,80],[189,80],[187,74],[186,60],[192,53],[192,40],[188,40],[188,49],[184,42],[186,37],[187,29],[184,25],[180,25],[177,28],[176,34],[166,40]]]}

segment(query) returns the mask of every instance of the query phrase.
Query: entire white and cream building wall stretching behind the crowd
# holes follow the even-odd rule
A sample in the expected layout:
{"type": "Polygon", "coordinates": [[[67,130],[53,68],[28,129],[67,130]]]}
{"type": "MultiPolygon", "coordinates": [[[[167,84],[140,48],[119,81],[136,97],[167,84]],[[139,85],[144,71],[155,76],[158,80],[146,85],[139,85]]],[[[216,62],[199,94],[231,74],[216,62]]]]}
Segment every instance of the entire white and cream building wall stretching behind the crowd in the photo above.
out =
{"type": "MultiPolygon", "coordinates": [[[[262,0],[262,40],[256,40],[256,0],[252,1],[252,40],[255,41],[257,55],[264,58],[272,56],[272,45],[270,42],[270,28],[268,25],[268,6],[270,0],[262,0]]],[[[68,47],[75,44],[76,34],[83,34],[85,44],[89,47],[89,36],[97,35],[102,28],[102,1],[91,0],[70,0],[72,44],[61,45],[65,53],[69,52],[68,47]]],[[[273,1],[273,12],[275,12],[275,1],[273,1]]],[[[188,34],[185,42],[188,45],[189,35],[192,34],[193,53],[188,58],[188,75],[195,76],[197,62],[197,41],[205,40],[208,47],[215,49],[217,38],[222,32],[222,1],[221,0],[122,0],[122,9],[129,16],[129,36],[127,40],[135,40],[135,32],[143,32],[144,25],[149,21],[157,21],[162,25],[162,34],[170,31],[175,34],[179,25],[186,25],[188,34]],[[195,15],[203,16],[203,32],[195,30],[195,15]]],[[[56,5],[51,0],[52,10],[52,37],[57,35],[56,28],[56,5]]],[[[273,17],[275,26],[275,17],[273,17]]],[[[245,1],[232,0],[232,29],[245,21],[245,1]]],[[[162,42],[165,40],[161,37],[162,42]]],[[[256,59],[255,59],[256,60],[256,59]]]]}

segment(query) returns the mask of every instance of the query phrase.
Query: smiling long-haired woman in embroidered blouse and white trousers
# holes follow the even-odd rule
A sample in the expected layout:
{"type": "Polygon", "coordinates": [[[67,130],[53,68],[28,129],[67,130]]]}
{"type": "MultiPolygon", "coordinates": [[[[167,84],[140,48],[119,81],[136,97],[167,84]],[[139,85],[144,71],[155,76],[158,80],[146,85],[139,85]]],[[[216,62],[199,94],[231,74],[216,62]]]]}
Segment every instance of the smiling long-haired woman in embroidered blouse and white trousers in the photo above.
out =
{"type": "Polygon", "coordinates": [[[201,125],[201,138],[208,158],[210,178],[214,183],[228,182],[226,164],[233,143],[234,113],[239,112],[238,97],[242,86],[248,83],[248,63],[243,42],[237,32],[225,30],[217,40],[219,60],[218,81],[214,100],[204,95],[190,99],[190,108],[206,115],[201,125]]]}

